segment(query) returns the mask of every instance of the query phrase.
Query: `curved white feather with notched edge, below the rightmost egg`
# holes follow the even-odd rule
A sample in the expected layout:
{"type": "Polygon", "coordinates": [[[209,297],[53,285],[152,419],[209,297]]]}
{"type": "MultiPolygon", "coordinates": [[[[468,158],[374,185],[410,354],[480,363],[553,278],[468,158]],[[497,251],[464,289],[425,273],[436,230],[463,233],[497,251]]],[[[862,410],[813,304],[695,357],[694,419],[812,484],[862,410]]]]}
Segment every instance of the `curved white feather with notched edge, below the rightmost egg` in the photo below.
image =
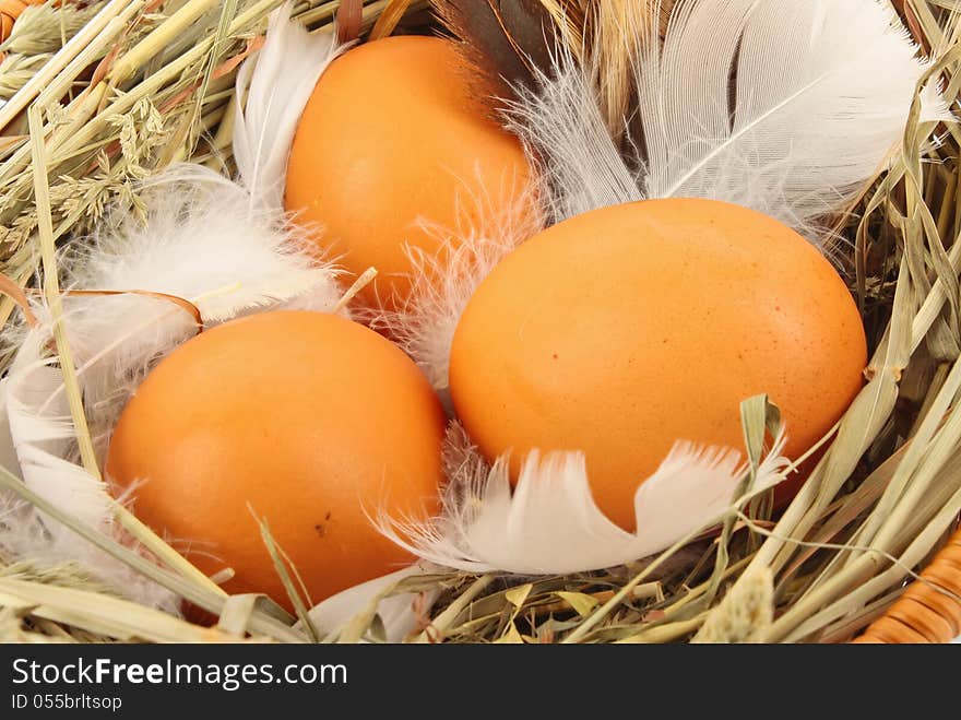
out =
{"type": "MultiPolygon", "coordinates": [[[[752,493],[784,479],[780,435],[759,468],[752,493]]],[[[506,457],[488,467],[453,426],[448,437],[449,486],[439,518],[381,517],[393,542],[425,560],[471,573],[581,573],[624,565],[666,550],[716,524],[737,499],[747,472],[734,450],[678,444],[634,495],[637,530],[614,524],[594,503],[584,457],[530,453],[511,492],[506,457]]]]}

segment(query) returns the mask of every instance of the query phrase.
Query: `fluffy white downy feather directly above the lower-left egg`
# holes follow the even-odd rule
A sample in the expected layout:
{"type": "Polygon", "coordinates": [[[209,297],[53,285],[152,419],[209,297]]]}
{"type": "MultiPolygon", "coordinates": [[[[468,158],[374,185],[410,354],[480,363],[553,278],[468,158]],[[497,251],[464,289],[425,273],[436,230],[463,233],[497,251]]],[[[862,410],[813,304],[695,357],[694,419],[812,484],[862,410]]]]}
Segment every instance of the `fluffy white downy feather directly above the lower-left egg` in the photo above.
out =
{"type": "Polygon", "coordinates": [[[305,295],[329,310],[340,298],[332,267],[308,253],[310,236],[280,206],[250,209],[242,187],[201,165],[173,166],[143,187],[145,217],[107,219],[67,282],[176,295],[211,322],[305,295]]]}

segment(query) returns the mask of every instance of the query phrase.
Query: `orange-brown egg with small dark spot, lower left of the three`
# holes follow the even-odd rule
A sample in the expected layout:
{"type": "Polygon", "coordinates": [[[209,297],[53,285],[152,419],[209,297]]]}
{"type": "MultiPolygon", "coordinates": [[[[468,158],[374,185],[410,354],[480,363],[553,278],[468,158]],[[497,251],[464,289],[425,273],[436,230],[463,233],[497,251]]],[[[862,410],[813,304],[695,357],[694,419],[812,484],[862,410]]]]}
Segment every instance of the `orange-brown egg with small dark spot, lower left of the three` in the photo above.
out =
{"type": "Polygon", "coordinates": [[[289,607],[251,511],[313,601],[392,571],[411,557],[365,511],[437,510],[444,422],[414,363],[373,331],[265,312],[159,363],[117,424],[107,473],[200,569],[234,568],[228,591],[289,607]]]}

